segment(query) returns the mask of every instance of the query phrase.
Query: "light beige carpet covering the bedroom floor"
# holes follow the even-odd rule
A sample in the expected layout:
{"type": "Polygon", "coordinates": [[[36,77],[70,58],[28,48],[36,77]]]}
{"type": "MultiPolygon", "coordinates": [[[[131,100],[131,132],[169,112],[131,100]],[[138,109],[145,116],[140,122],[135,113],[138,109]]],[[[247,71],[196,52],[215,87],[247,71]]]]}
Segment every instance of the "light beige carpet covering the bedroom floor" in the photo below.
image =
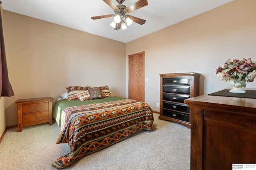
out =
{"type": "MultiPolygon", "coordinates": [[[[84,156],[64,170],[190,170],[190,129],[158,119],[152,131],[140,131],[98,152],[84,156]]],[[[2,170],[56,170],[52,163],[71,151],[56,144],[57,123],[7,129],[0,143],[2,170]]]]}

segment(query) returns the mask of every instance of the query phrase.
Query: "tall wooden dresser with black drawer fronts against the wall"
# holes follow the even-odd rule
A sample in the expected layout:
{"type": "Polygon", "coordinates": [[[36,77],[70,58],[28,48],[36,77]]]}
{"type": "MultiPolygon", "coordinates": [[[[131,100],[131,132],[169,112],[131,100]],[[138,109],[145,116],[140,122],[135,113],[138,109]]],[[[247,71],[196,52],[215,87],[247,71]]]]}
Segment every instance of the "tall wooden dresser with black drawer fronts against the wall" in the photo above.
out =
{"type": "Polygon", "coordinates": [[[160,120],[190,128],[190,109],[184,100],[199,95],[199,77],[195,72],[160,74],[160,120]]]}

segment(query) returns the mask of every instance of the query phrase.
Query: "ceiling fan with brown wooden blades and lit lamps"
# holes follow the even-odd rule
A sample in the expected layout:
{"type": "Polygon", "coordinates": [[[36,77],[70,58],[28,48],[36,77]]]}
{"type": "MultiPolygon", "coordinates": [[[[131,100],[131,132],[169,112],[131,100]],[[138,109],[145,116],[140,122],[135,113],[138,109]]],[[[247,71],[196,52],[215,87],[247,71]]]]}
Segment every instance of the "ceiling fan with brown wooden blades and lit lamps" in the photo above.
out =
{"type": "Polygon", "coordinates": [[[103,1],[106,2],[106,4],[108,4],[108,6],[110,6],[110,8],[114,10],[115,14],[108,14],[104,16],[94,16],[91,18],[92,20],[114,17],[114,20],[112,21],[112,23],[110,23],[110,26],[112,26],[115,30],[126,29],[127,28],[126,24],[131,25],[132,22],[136,22],[140,25],[143,25],[146,22],[146,20],[142,20],[140,18],[128,15],[128,13],[138,10],[139,8],[142,8],[144,6],[147,6],[148,5],[147,0],[139,0],[127,8],[126,6],[122,5],[122,3],[125,0],[116,0],[116,2],[118,2],[119,5],[114,4],[112,0],[103,0],[103,1]]]}

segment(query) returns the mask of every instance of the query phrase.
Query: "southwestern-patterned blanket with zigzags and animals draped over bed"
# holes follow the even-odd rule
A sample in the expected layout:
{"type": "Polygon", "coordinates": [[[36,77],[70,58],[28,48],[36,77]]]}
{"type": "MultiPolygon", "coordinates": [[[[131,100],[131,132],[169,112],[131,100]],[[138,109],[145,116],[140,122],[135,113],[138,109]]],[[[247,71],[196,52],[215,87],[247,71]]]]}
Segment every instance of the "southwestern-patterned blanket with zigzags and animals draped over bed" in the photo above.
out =
{"type": "Polygon", "coordinates": [[[124,99],[64,109],[65,124],[57,144],[68,143],[71,152],[52,166],[62,169],[82,156],[117,143],[134,133],[151,130],[153,111],[144,102],[124,99]]]}

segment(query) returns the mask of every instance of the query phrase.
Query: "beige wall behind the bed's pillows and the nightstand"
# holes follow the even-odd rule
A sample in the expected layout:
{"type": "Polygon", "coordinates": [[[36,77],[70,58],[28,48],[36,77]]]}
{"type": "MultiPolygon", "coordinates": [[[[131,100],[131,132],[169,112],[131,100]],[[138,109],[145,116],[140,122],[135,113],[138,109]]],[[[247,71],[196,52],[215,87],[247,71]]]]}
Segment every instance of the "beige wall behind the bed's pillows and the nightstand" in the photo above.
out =
{"type": "Polygon", "coordinates": [[[125,43],[4,10],[5,44],[14,96],[7,126],[17,125],[15,101],[52,96],[65,86],[105,86],[126,97],[125,43]]]}

